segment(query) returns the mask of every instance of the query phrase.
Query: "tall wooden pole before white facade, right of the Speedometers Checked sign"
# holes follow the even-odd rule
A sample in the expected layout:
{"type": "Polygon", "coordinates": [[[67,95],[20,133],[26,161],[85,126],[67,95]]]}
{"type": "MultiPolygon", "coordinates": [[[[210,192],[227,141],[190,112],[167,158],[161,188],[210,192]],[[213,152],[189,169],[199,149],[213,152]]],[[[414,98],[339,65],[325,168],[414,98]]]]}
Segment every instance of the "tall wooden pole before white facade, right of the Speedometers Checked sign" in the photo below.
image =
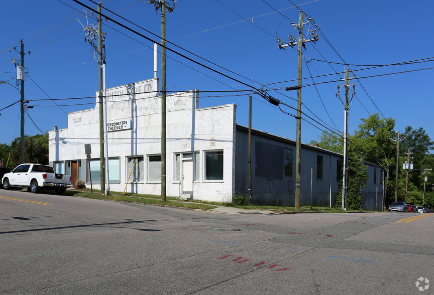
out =
{"type": "Polygon", "coordinates": [[[172,7],[166,0],[149,0],[158,11],[161,8],[161,200],[166,201],[166,11],[172,12],[172,7]],[[167,7],[166,7],[167,6],[167,7]]]}

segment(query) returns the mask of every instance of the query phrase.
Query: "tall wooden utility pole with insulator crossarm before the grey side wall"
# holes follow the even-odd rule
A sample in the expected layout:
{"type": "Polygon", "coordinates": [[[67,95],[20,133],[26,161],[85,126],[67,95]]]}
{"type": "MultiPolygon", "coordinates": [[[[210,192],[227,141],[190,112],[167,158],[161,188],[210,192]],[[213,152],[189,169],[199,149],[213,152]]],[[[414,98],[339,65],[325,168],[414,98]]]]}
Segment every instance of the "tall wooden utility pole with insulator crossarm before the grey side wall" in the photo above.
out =
{"type": "Polygon", "coordinates": [[[297,87],[288,87],[286,90],[297,89],[297,116],[296,118],[296,142],[295,142],[295,209],[300,209],[300,170],[301,170],[301,82],[302,82],[302,58],[303,58],[303,46],[304,43],[307,42],[316,42],[318,40],[318,34],[315,33],[316,30],[313,30],[311,35],[312,38],[305,40],[303,39],[303,25],[309,23],[311,21],[310,18],[307,18],[308,21],[303,23],[303,11],[300,10],[300,17],[298,20],[298,24],[292,24],[298,28],[298,40],[293,39],[293,35],[289,35],[289,43],[284,44],[280,40],[277,39],[277,45],[279,49],[284,49],[287,46],[294,47],[298,46],[298,71],[297,71],[297,87]]]}

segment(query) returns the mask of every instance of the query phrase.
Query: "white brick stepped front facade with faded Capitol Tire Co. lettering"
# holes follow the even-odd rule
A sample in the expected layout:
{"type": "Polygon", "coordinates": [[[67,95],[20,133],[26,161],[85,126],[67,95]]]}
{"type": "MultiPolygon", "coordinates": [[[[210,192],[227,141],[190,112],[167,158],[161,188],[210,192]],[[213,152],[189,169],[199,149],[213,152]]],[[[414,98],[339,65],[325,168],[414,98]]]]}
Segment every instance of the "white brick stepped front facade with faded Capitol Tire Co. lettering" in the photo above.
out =
{"type": "MultiPolygon", "coordinates": [[[[157,78],[107,89],[112,191],[161,192],[161,96],[157,94],[157,78]]],[[[166,97],[166,193],[189,197],[194,191],[201,200],[230,201],[236,105],[198,108],[197,94],[192,90],[166,97]]],[[[99,157],[96,98],[93,109],[68,114],[68,128],[49,132],[49,162],[57,172],[70,174],[74,184],[77,179],[90,184],[91,177],[93,187],[99,189],[99,157]],[[90,175],[84,151],[89,143],[90,175]]]]}

